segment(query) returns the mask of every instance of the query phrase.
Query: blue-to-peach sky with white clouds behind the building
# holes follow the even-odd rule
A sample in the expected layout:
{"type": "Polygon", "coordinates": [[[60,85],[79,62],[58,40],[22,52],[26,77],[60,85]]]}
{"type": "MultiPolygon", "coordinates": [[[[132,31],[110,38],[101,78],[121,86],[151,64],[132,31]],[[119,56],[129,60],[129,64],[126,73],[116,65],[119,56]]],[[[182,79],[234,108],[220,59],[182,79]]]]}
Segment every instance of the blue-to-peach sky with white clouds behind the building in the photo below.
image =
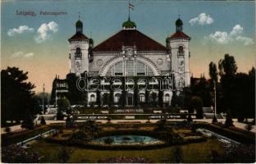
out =
{"type": "MultiPolygon", "coordinates": [[[[165,45],[176,31],[175,21],[183,21],[190,40],[190,72],[208,77],[210,62],[229,53],[239,72],[255,67],[254,1],[135,1],[131,21],[137,30],[165,45]]],[[[69,73],[69,39],[75,34],[75,21],[84,24],[86,36],[94,45],[121,30],[128,18],[128,1],[3,1],[1,3],[1,69],[17,66],[28,71],[36,88],[51,92],[53,79],[69,73]],[[62,15],[40,15],[44,11],[62,15]],[[24,16],[24,12],[36,16],[24,16]]]]}

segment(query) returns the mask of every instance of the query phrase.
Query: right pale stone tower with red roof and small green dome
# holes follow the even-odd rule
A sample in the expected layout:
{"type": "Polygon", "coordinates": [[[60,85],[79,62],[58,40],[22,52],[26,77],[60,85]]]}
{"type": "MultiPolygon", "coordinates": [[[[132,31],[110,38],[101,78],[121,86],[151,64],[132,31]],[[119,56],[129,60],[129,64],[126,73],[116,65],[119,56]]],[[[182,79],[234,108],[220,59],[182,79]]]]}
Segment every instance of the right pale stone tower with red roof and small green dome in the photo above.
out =
{"type": "Polygon", "coordinates": [[[171,53],[171,71],[176,75],[176,86],[190,85],[190,36],[183,33],[183,22],[176,20],[176,33],[167,38],[167,48],[171,53]]]}

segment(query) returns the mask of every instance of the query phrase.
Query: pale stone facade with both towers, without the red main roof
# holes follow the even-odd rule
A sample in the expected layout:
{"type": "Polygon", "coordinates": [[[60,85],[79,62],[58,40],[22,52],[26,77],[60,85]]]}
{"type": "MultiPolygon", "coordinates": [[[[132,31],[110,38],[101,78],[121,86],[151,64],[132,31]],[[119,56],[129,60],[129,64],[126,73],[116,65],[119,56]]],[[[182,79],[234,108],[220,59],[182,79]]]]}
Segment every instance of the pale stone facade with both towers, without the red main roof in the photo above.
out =
{"type": "MultiPolygon", "coordinates": [[[[77,29],[81,30],[80,33],[69,39],[70,71],[77,76],[85,71],[92,76],[158,76],[174,73],[176,88],[190,85],[190,37],[182,32],[182,21],[181,25],[177,25],[176,21],[176,33],[167,38],[167,47],[162,50],[141,50],[134,43],[123,45],[120,51],[97,51],[93,48],[92,52],[89,52],[89,39],[82,34],[82,25],[79,28],[76,26],[77,29]]],[[[123,26],[122,30],[132,31],[136,28],[135,25],[123,26]]],[[[103,93],[109,92],[102,91],[101,97],[103,93]]],[[[158,94],[158,89],[152,89],[150,93],[158,94]]],[[[113,93],[114,103],[119,101],[120,94],[120,91],[113,93]]],[[[132,91],[127,93],[127,103],[134,101],[129,99],[132,94],[132,91]]],[[[96,102],[96,97],[96,92],[89,92],[90,103],[96,102]]],[[[172,91],[164,90],[162,97],[164,103],[170,104],[172,91]]],[[[139,101],[145,102],[143,90],[139,90],[139,101]]]]}

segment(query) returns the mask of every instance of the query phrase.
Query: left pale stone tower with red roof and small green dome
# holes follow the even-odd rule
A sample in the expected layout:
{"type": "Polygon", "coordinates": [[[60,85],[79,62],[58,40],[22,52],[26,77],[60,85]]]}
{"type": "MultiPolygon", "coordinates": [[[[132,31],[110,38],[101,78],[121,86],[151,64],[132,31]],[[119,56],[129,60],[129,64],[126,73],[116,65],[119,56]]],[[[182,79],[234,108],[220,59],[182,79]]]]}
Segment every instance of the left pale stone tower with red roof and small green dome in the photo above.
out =
{"type": "Polygon", "coordinates": [[[76,21],[75,34],[68,39],[70,43],[70,72],[79,76],[89,71],[89,38],[83,34],[83,22],[76,21]]]}

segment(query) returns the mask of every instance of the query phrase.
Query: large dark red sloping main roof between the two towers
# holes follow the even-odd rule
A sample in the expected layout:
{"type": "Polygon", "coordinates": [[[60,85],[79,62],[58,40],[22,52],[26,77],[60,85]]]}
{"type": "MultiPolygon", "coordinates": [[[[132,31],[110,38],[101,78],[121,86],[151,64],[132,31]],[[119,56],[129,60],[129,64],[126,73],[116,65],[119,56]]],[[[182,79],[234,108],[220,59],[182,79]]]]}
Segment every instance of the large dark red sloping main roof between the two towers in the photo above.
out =
{"type": "Polygon", "coordinates": [[[121,30],[109,39],[99,43],[94,52],[121,51],[122,46],[136,46],[138,51],[166,51],[161,43],[138,30],[121,30]]]}

